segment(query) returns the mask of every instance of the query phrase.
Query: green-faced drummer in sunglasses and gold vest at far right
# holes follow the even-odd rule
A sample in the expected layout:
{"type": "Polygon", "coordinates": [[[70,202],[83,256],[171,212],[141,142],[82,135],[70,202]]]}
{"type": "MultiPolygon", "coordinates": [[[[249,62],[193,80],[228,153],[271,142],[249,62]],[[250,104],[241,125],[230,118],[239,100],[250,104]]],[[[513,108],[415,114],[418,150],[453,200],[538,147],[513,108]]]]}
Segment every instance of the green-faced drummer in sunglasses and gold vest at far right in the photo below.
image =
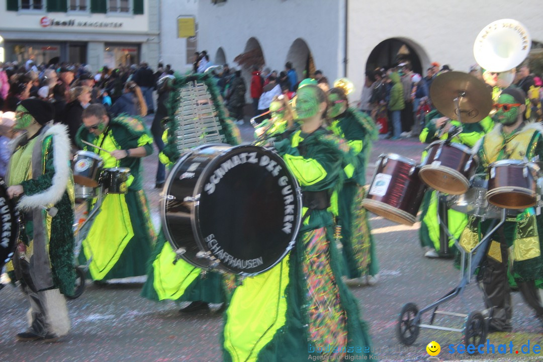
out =
{"type": "MultiPolygon", "coordinates": [[[[527,123],[524,119],[526,94],[520,88],[506,88],[501,92],[495,128],[475,145],[481,164],[478,172],[487,172],[490,163],[500,160],[543,160],[543,126],[527,123]]],[[[460,245],[471,250],[484,234],[488,221],[470,217],[460,237],[460,245]],[[479,232],[480,230],[480,232],[479,232]]],[[[543,215],[535,215],[533,207],[524,209],[516,217],[508,218],[492,237],[484,268],[482,285],[488,296],[487,308],[494,307],[490,332],[511,331],[513,308],[508,283],[508,267],[526,303],[534,309],[543,326],[543,304],[536,290],[536,282],[543,280],[543,215]],[[509,262],[509,258],[512,262],[509,262]]],[[[483,264],[484,265],[484,264],[483,264]]],[[[488,311],[488,309],[487,309],[488,311]]]]}

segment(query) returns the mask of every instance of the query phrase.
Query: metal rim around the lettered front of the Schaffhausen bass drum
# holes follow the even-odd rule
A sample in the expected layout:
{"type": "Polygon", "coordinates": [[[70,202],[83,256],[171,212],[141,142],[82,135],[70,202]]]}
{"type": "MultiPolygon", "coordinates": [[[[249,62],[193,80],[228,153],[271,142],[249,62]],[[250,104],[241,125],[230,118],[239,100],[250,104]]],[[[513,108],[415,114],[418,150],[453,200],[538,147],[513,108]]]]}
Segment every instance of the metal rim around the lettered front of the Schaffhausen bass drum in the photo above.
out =
{"type": "MultiPolygon", "coordinates": [[[[261,147],[261,146],[250,145],[250,144],[240,144],[240,145],[231,146],[228,149],[224,150],[222,153],[220,153],[218,157],[214,157],[206,165],[206,167],[202,170],[202,172],[201,172],[200,176],[198,177],[198,180],[196,181],[195,186],[194,186],[194,193],[193,193],[194,198],[196,198],[197,195],[199,195],[204,189],[204,177],[203,176],[206,174],[207,170],[209,168],[211,168],[212,166],[214,166],[216,163],[218,163],[219,159],[222,158],[221,156],[225,155],[226,153],[228,153],[228,152],[230,152],[232,150],[238,149],[238,148],[261,149],[263,151],[268,151],[268,152],[274,153],[277,157],[281,158],[281,160],[282,160],[282,157],[279,156],[279,154],[277,154],[276,151],[271,151],[271,150],[266,149],[266,148],[261,147]]],[[[287,166],[285,160],[282,160],[282,161],[285,164],[285,166],[287,166]]],[[[226,272],[229,272],[229,273],[232,273],[232,274],[240,275],[240,276],[259,275],[259,274],[262,274],[263,272],[266,272],[266,271],[270,270],[275,265],[279,264],[282,261],[282,259],[285,258],[287,256],[287,254],[291,251],[291,249],[294,247],[294,244],[296,243],[296,238],[298,237],[298,233],[299,233],[300,228],[301,228],[301,224],[302,224],[301,221],[302,221],[302,218],[303,218],[303,215],[301,214],[301,211],[302,211],[302,194],[301,194],[301,189],[300,189],[300,185],[298,183],[298,180],[296,179],[296,177],[294,176],[292,171],[288,167],[285,167],[284,169],[291,176],[291,179],[294,182],[294,184],[293,184],[293,188],[294,188],[293,193],[296,194],[295,200],[298,202],[298,209],[300,211],[300,215],[299,215],[298,221],[294,225],[291,241],[289,242],[289,244],[288,244],[287,248],[285,249],[285,251],[282,253],[281,257],[278,258],[277,261],[273,265],[268,266],[268,268],[263,269],[263,270],[258,271],[258,272],[254,272],[254,273],[235,272],[235,271],[231,270],[230,268],[227,268],[218,259],[217,259],[217,261],[218,261],[217,269],[223,270],[223,271],[226,271],[226,272]]],[[[172,170],[172,172],[173,172],[173,170],[172,170]]],[[[203,235],[200,235],[199,221],[197,220],[197,215],[199,215],[199,204],[200,204],[200,202],[197,201],[197,202],[193,202],[193,205],[191,206],[191,209],[192,209],[192,212],[191,212],[191,225],[192,225],[193,233],[195,233],[195,235],[197,236],[197,237],[195,237],[196,244],[198,245],[198,247],[200,247],[201,250],[206,250],[207,248],[202,247],[203,245],[205,245],[204,237],[203,237],[203,235]]]]}

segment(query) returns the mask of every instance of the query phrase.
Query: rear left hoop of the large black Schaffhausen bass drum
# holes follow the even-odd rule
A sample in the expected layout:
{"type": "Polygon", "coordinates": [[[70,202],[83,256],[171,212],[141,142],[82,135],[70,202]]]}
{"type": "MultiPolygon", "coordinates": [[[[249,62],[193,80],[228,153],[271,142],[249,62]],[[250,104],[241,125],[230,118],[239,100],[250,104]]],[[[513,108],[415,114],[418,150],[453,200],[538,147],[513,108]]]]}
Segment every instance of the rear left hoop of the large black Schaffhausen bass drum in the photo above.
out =
{"type": "MultiPolygon", "coordinates": [[[[204,149],[204,148],[207,148],[207,147],[216,147],[216,146],[229,146],[229,145],[225,144],[225,143],[203,144],[203,145],[194,147],[191,150],[188,150],[184,154],[182,154],[179,157],[179,160],[177,160],[175,162],[174,167],[172,167],[172,169],[168,173],[168,177],[166,177],[166,182],[164,183],[164,187],[162,188],[162,198],[160,200],[160,213],[161,213],[161,221],[162,221],[162,225],[161,225],[162,231],[164,232],[164,236],[166,237],[166,240],[168,240],[168,243],[172,246],[173,251],[175,252],[175,254],[178,257],[181,257],[181,259],[183,259],[185,262],[187,262],[187,263],[189,263],[191,265],[197,266],[198,268],[206,269],[206,270],[210,269],[210,264],[211,263],[207,263],[207,264],[206,263],[199,263],[195,259],[188,258],[185,255],[185,253],[178,253],[177,252],[177,250],[179,249],[179,246],[175,245],[176,244],[175,243],[175,238],[173,238],[172,234],[169,231],[169,226],[168,226],[169,223],[168,223],[168,218],[167,218],[168,214],[167,214],[166,207],[167,207],[168,196],[170,195],[170,189],[171,189],[171,187],[173,185],[173,178],[177,175],[178,169],[181,166],[183,166],[183,164],[187,160],[187,158],[190,157],[194,153],[194,151],[196,151],[196,150],[204,149]]],[[[201,175],[199,177],[201,177],[201,175]]],[[[195,195],[193,194],[192,196],[194,197],[195,195]]],[[[194,214],[194,205],[191,206],[191,219],[193,218],[193,214],[194,214]]],[[[192,224],[192,221],[191,221],[191,224],[192,224]]],[[[194,229],[194,225],[193,225],[192,226],[193,238],[194,238],[194,240],[197,240],[198,236],[194,232],[194,230],[195,229],[194,229]]],[[[202,260],[205,260],[205,259],[202,259],[202,260]]]]}

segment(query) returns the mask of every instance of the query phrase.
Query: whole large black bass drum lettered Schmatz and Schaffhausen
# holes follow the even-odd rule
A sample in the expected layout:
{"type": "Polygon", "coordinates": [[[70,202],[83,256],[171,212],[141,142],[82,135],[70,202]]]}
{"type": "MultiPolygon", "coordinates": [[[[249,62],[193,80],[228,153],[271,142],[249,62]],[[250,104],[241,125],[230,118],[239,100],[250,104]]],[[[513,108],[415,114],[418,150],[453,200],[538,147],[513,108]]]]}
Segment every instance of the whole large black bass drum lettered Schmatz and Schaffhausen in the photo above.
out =
{"type": "Polygon", "coordinates": [[[181,156],[168,175],[162,226],[188,263],[257,275],[294,246],[301,200],[298,182],[273,150],[207,144],[181,156]]]}

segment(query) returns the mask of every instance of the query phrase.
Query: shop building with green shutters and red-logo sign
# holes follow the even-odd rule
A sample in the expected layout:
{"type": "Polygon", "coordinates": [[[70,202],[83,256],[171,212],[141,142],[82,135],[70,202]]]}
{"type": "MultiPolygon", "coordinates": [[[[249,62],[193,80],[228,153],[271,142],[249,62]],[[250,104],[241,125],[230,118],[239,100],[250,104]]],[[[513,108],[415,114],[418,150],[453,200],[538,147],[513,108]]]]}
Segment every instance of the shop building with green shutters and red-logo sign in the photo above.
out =
{"type": "Polygon", "coordinates": [[[153,65],[159,0],[0,0],[0,41],[4,61],[153,65]]]}

